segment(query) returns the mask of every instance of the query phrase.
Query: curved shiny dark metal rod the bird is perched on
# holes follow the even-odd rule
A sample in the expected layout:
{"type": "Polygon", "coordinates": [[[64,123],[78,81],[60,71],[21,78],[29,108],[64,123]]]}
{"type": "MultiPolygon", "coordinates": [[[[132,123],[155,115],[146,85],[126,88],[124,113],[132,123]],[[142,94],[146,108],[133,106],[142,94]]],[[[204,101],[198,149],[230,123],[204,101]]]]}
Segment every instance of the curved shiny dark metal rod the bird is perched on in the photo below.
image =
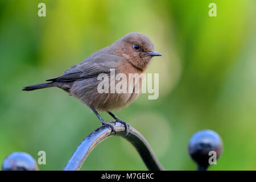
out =
{"type": "Polygon", "coordinates": [[[102,125],[98,129],[94,130],[88,135],[80,145],[76,148],[76,151],[69,159],[64,171],[77,171],[81,168],[87,156],[99,143],[104,139],[111,136],[119,136],[128,140],[141,155],[144,164],[148,170],[163,171],[164,168],[159,163],[154,152],[152,151],[147,140],[133,127],[130,127],[129,134],[126,135],[125,127],[121,123],[115,123],[114,129],[117,131],[116,134],[111,132],[110,126],[102,125]]]}

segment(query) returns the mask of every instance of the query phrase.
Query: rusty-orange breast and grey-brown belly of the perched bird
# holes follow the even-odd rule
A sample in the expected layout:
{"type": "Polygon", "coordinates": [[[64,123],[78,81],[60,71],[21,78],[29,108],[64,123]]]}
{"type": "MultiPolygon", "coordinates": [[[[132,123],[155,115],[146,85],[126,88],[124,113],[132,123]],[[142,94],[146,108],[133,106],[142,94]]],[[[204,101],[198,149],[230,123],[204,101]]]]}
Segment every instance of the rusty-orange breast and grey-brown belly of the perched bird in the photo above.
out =
{"type": "Polygon", "coordinates": [[[88,106],[108,111],[122,109],[136,100],[141,93],[144,73],[127,61],[120,61],[114,70],[114,76],[108,75],[108,93],[101,93],[98,85],[102,80],[89,78],[76,81],[71,94],[88,106]]]}

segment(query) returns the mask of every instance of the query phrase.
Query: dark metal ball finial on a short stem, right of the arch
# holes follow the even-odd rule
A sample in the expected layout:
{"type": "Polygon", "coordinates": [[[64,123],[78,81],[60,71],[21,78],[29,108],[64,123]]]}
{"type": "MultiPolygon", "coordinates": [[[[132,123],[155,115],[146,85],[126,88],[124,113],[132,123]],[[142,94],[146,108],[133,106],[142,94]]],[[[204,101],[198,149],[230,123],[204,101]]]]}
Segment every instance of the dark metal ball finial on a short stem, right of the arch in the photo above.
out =
{"type": "Polygon", "coordinates": [[[195,133],[188,145],[189,155],[201,170],[206,170],[209,166],[210,151],[216,152],[216,159],[222,152],[222,140],[220,136],[212,130],[201,130],[195,133]]]}

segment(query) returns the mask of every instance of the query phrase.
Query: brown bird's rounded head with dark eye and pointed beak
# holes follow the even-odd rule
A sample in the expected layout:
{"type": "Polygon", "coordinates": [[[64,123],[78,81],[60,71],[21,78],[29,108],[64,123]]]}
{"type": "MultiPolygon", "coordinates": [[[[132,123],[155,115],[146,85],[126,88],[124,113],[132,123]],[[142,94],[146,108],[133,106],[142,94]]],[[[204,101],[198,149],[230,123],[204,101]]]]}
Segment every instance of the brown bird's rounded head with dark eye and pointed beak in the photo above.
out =
{"type": "Polygon", "coordinates": [[[121,55],[135,67],[143,71],[150,64],[154,56],[162,54],[154,51],[154,44],[148,36],[138,32],[131,32],[115,42],[120,48],[121,55]]]}

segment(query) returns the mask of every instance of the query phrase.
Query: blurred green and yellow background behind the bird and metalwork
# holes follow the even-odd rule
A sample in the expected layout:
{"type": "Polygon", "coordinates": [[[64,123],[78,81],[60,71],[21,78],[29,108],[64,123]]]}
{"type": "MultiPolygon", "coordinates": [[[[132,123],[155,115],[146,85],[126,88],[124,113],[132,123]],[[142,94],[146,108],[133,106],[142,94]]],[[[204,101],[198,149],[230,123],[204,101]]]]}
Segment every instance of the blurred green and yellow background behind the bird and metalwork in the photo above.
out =
{"type": "MultiPolygon", "coordinates": [[[[166,169],[194,170],[189,138],[220,134],[224,152],[211,170],[256,169],[256,2],[0,1],[0,164],[28,152],[41,170],[63,169],[78,144],[100,126],[80,101],[58,88],[22,92],[44,82],[131,31],[148,35],[163,57],[159,98],[114,113],[140,131],[166,169]],[[46,17],[38,4],[46,3],[46,17]],[[209,3],[217,17],[208,15],[209,3]]],[[[105,119],[108,114],[101,113],[105,119]]],[[[118,137],[95,148],[83,170],[144,170],[137,151],[118,137]]]]}

